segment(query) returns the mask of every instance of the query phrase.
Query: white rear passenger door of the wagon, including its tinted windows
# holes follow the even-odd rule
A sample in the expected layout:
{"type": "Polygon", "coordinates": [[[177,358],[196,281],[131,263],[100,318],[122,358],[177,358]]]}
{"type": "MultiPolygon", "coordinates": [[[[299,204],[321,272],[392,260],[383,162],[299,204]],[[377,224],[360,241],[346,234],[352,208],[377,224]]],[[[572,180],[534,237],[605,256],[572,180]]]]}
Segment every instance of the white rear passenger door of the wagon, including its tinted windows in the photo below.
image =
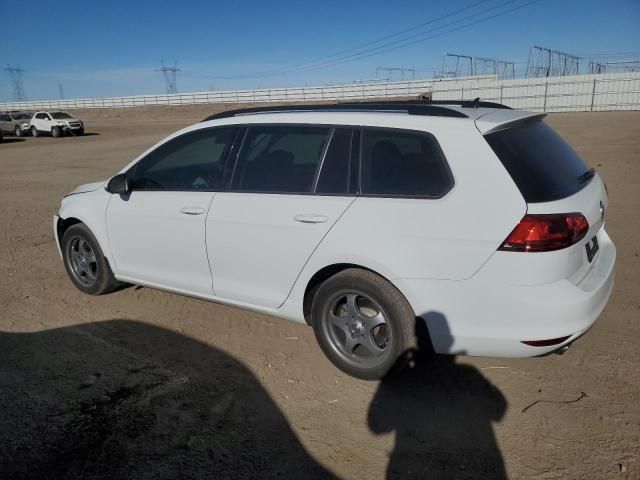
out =
{"type": "Polygon", "coordinates": [[[279,307],[314,249],[355,198],[350,129],[254,125],[231,191],[207,217],[215,295],[279,307]]]}

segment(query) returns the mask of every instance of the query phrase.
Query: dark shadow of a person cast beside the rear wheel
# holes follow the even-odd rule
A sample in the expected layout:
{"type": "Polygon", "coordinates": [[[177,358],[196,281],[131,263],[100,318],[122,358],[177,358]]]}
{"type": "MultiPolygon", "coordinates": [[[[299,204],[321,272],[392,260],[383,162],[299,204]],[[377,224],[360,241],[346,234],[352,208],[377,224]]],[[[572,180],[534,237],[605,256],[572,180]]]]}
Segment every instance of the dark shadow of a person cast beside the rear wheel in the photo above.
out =
{"type": "MultiPolygon", "coordinates": [[[[395,432],[388,479],[506,479],[492,423],[507,401],[480,371],[435,355],[426,324],[453,344],[445,317],[416,318],[417,349],[406,353],[402,373],[380,383],[368,412],[375,434],[395,432]]],[[[462,352],[460,352],[462,353],[462,352]]]]}

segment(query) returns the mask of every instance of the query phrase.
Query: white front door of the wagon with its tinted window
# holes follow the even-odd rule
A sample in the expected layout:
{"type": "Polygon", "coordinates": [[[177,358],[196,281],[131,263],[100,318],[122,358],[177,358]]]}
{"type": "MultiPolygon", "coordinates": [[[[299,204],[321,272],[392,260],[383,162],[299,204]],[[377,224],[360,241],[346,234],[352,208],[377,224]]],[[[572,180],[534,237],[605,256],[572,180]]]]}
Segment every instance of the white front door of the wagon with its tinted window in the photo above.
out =
{"type": "Polygon", "coordinates": [[[205,219],[222,182],[235,128],[176,137],[128,172],[131,193],[113,195],[107,232],[118,276],[211,295],[205,219]]]}

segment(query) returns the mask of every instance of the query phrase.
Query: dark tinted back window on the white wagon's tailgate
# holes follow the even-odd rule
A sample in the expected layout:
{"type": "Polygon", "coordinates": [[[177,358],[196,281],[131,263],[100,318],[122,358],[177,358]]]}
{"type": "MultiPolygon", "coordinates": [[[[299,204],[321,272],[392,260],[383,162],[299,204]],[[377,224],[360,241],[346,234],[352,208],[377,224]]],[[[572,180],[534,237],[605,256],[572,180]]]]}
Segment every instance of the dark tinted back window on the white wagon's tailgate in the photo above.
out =
{"type": "Polygon", "coordinates": [[[552,202],[580,191],[593,171],[542,121],[485,135],[527,203],[552,202]]]}

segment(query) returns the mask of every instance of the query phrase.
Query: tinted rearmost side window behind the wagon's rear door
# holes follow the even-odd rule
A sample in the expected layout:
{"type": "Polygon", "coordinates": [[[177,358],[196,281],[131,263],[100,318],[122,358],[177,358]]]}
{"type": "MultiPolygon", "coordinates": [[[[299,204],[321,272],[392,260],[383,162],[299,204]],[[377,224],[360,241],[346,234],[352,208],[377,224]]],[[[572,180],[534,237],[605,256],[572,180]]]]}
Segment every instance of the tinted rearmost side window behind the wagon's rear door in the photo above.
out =
{"type": "Polygon", "coordinates": [[[438,143],[427,133],[364,129],[361,158],[364,194],[441,197],[453,183],[438,143]]]}

